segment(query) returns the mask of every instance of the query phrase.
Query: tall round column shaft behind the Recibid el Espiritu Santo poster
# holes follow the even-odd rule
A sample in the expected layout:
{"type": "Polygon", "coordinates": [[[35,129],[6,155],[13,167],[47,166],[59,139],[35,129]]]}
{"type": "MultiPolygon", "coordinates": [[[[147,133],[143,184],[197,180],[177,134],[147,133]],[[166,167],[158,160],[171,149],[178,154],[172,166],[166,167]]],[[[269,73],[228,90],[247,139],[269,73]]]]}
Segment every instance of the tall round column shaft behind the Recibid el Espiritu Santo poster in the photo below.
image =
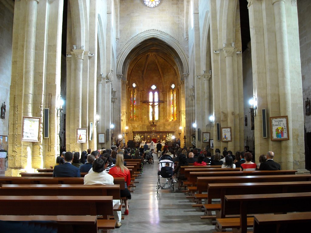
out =
{"type": "MultiPolygon", "coordinates": [[[[272,4],[275,16],[278,80],[280,84],[279,85],[280,114],[281,116],[288,116],[288,127],[289,129],[292,129],[290,70],[289,70],[290,64],[289,64],[288,41],[287,41],[285,1],[273,0],[272,4]]],[[[292,130],[288,130],[288,133],[289,133],[289,140],[281,142],[282,169],[293,168],[292,130]]]]}

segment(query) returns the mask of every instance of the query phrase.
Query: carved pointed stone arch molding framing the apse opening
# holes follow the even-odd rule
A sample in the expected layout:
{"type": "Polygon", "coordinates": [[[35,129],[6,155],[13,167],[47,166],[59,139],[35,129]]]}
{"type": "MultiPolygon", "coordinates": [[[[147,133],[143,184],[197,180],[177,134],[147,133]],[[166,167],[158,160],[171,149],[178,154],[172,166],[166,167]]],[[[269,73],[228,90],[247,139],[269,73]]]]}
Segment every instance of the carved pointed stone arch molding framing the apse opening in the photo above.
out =
{"type": "Polygon", "coordinates": [[[188,72],[188,53],[187,50],[183,47],[183,45],[173,36],[170,34],[157,30],[157,29],[149,29],[142,31],[135,36],[133,36],[131,39],[129,39],[121,48],[120,52],[117,56],[117,71],[122,72],[123,64],[128,56],[128,54],[132,51],[133,48],[135,48],[139,43],[145,41],[146,39],[150,38],[157,38],[165,43],[167,43],[169,46],[174,48],[174,50],[179,55],[179,58],[181,59],[183,70],[181,72],[188,72]]]}

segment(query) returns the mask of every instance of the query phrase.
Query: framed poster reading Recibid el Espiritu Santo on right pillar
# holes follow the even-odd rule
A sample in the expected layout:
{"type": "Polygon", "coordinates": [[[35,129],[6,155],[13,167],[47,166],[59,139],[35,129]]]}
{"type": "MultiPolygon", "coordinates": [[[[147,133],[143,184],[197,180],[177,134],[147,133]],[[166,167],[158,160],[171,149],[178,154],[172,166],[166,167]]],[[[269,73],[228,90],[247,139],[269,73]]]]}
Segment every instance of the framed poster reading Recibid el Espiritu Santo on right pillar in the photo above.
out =
{"type": "Polygon", "coordinates": [[[270,117],[271,141],[289,140],[288,134],[288,118],[270,117]]]}

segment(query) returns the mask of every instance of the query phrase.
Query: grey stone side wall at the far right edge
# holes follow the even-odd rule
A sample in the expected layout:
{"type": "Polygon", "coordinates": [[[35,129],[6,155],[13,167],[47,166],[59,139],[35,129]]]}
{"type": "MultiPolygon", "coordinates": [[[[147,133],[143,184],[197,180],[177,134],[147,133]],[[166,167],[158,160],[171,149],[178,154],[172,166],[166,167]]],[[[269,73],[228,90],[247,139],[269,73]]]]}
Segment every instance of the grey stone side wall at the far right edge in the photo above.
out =
{"type": "MultiPolygon", "coordinates": [[[[307,97],[311,99],[311,1],[297,1],[298,23],[299,23],[299,44],[300,44],[300,59],[301,59],[301,78],[303,88],[303,104],[307,97]]],[[[311,131],[311,115],[305,115],[304,105],[304,124],[307,132],[311,131]]]]}

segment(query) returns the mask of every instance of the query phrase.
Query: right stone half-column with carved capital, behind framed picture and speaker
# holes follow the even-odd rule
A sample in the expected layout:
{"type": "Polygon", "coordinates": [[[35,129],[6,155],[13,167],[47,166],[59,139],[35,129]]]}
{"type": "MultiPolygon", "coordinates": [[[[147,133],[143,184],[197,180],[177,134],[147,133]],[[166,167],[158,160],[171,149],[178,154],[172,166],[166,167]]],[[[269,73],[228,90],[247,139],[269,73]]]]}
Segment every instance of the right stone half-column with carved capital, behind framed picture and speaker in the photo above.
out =
{"type": "MultiPolygon", "coordinates": [[[[228,112],[228,127],[231,127],[231,142],[228,142],[228,148],[234,150],[234,98],[233,98],[233,65],[232,56],[234,53],[233,47],[224,48],[225,59],[226,59],[226,86],[227,86],[227,112],[228,112]]],[[[222,126],[223,127],[223,126],[222,126]]],[[[235,151],[235,150],[234,150],[235,151]]]]}

